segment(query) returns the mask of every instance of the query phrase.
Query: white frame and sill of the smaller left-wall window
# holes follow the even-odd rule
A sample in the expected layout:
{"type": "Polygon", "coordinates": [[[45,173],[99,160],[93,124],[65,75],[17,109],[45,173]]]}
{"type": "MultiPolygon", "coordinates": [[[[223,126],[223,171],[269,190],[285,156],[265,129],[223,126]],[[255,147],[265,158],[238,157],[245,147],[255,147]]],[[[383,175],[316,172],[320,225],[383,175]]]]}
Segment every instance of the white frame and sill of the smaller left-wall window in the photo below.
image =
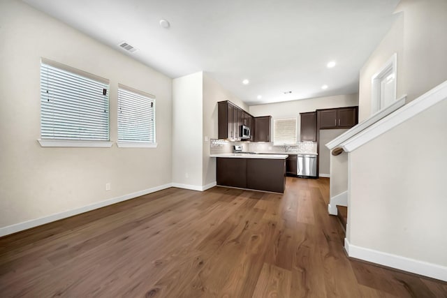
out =
{"type": "Polygon", "coordinates": [[[117,89],[117,147],[119,148],[156,148],[158,147],[158,143],[156,142],[156,96],[146,93],[144,91],[140,91],[138,89],[134,89],[132,87],[126,86],[124,84],[118,84],[117,89]],[[148,98],[152,100],[154,106],[152,107],[154,110],[154,131],[152,134],[154,135],[153,142],[140,141],[140,140],[119,140],[119,114],[120,114],[120,98],[119,98],[119,90],[130,92],[133,95],[141,96],[142,98],[148,98]]]}

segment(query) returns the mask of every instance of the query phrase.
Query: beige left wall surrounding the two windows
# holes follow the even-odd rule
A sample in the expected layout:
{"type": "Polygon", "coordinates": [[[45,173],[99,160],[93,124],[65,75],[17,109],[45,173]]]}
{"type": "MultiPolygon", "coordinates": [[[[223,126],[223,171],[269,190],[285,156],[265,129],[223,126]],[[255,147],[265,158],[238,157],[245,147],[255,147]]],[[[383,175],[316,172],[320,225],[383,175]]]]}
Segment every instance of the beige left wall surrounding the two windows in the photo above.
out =
{"type": "Polygon", "coordinates": [[[171,183],[169,77],[21,1],[0,2],[0,65],[0,228],[171,183]],[[154,94],[159,146],[41,147],[41,57],[110,80],[112,141],[118,83],[154,94]]]}

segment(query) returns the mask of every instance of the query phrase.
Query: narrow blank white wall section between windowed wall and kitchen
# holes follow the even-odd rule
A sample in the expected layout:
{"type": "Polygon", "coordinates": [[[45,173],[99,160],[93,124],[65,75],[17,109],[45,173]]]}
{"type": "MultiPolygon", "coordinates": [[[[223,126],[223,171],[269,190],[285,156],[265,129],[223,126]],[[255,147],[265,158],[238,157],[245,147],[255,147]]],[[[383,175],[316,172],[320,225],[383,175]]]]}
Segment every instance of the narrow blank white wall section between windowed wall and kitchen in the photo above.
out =
{"type": "Polygon", "coordinates": [[[173,80],[173,183],[202,187],[203,73],[173,80]]]}

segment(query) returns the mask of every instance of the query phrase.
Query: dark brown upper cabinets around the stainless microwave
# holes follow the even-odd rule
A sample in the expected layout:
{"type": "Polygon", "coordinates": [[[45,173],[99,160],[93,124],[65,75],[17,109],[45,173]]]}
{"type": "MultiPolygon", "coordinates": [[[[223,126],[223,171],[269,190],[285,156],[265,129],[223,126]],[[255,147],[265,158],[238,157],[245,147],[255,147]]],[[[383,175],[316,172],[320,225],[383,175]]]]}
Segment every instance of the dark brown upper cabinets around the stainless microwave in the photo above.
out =
{"type": "MultiPolygon", "coordinates": [[[[219,139],[240,139],[240,126],[246,125],[254,131],[253,116],[230,101],[220,101],[218,107],[218,137],[219,139]]],[[[252,140],[252,139],[250,139],[252,140]]]]}

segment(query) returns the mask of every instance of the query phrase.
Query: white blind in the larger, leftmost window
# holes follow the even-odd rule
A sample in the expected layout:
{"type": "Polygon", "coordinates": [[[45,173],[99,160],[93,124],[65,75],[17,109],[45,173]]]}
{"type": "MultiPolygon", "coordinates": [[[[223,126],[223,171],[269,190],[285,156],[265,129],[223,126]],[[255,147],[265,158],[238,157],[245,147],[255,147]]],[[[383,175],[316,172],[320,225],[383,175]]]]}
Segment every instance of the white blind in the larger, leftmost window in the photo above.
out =
{"type": "Polygon", "coordinates": [[[108,82],[42,59],[41,139],[108,141],[108,82]]]}

